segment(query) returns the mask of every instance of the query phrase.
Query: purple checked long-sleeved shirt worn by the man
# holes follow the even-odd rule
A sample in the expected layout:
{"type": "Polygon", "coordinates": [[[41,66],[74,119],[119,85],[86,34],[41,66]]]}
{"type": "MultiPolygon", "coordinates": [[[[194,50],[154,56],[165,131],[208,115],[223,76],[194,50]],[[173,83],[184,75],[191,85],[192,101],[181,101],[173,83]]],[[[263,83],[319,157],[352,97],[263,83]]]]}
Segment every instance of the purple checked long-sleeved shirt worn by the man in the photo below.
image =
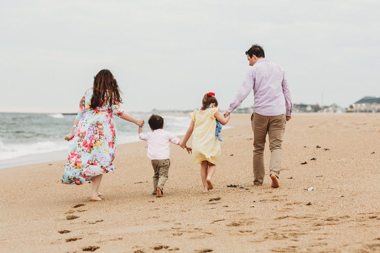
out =
{"type": "Polygon", "coordinates": [[[245,74],[245,81],[227,109],[235,110],[253,90],[253,111],[263,116],[290,116],[291,95],[284,70],[266,59],[259,59],[245,74]]]}

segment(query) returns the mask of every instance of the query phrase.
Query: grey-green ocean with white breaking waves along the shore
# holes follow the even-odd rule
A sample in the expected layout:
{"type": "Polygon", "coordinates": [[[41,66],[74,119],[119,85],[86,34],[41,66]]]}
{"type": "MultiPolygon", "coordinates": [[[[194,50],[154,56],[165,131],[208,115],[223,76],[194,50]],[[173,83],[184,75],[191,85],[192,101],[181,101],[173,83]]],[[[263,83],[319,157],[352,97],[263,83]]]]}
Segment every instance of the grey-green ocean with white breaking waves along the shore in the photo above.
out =
{"type": "MultiPolygon", "coordinates": [[[[150,113],[132,113],[145,120],[143,131],[150,131],[150,113]]],[[[165,116],[164,129],[184,135],[190,116],[165,116]]],[[[68,134],[76,115],[0,112],[0,168],[65,159],[68,134]]],[[[115,116],[118,144],[138,142],[138,126],[115,116]]]]}

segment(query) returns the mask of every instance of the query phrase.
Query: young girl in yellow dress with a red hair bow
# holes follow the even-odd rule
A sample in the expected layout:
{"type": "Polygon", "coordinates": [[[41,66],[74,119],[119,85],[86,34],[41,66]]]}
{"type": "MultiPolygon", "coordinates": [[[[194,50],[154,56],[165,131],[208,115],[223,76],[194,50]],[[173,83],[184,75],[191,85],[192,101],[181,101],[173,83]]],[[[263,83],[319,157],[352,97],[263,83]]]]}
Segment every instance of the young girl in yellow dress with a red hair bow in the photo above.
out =
{"type": "Polygon", "coordinates": [[[215,93],[209,92],[204,95],[202,108],[194,110],[190,114],[192,118],[190,126],[181,145],[181,148],[184,148],[191,134],[194,133],[192,157],[194,164],[200,163],[200,176],[204,193],[214,188],[211,179],[220,154],[220,142],[215,134],[216,120],[222,125],[226,125],[230,120],[230,115],[225,118],[219,111],[219,107],[216,106],[218,106],[218,101],[215,98],[215,93]]]}

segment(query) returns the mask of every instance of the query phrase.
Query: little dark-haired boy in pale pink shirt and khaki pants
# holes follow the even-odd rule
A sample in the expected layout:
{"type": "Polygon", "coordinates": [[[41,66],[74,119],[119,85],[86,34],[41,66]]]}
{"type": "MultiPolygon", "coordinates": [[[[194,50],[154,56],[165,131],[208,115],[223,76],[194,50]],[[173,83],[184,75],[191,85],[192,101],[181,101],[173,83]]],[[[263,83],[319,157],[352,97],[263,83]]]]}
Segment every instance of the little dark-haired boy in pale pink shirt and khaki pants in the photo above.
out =
{"type": "MultiPolygon", "coordinates": [[[[154,169],[153,176],[153,195],[157,198],[163,197],[164,184],[168,179],[168,171],[170,166],[170,146],[169,142],[176,145],[181,145],[180,139],[165,131],[164,119],[156,114],[152,114],[148,120],[150,130],[152,132],[144,134],[142,127],[139,127],[140,140],[148,142],[147,156],[152,160],[154,169]]],[[[190,153],[191,148],[185,146],[186,150],[190,153]]]]}

